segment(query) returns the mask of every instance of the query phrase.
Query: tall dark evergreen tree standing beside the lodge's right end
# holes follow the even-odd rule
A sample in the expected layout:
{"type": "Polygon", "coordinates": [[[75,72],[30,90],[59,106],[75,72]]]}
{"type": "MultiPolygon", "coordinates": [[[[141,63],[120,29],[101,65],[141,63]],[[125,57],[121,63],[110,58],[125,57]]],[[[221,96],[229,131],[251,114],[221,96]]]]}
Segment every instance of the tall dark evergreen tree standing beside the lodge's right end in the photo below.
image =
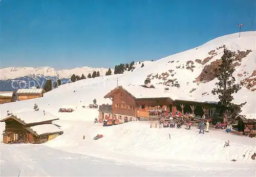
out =
{"type": "Polygon", "coordinates": [[[234,66],[232,65],[232,58],[234,54],[224,49],[224,54],[221,57],[221,64],[216,69],[215,73],[218,73],[219,82],[216,83],[217,89],[211,91],[212,94],[218,95],[220,105],[224,105],[226,109],[226,114],[228,116],[228,121],[232,120],[234,117],[241,113],[242,106],[246,103],[236,105],[232,103],[233,93],[237,93],[241,86],[235,84],[236,79],[232,76],[234,72],[234,66]]]}

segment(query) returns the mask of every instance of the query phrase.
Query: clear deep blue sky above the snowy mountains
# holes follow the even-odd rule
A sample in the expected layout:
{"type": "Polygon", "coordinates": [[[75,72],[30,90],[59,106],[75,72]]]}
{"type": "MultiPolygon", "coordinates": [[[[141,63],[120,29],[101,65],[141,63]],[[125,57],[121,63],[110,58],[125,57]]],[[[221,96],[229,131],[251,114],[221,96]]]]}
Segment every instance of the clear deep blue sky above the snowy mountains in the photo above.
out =
{"type": "Polygon", "coordinates": [[[254,0],[2,0],[0,67],[157,60],[238,32],[238,23],[255,30],[255,11],[254,0]]]}

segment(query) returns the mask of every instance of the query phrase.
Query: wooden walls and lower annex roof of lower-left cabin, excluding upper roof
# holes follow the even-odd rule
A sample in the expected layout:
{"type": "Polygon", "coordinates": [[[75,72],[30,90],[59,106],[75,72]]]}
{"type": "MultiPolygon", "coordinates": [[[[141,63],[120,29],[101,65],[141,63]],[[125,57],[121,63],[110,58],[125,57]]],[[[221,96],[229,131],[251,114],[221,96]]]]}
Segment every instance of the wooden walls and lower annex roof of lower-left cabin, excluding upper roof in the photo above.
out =
{"type": "Polygon", "coordinates": [[[0,122],[5,122],[3,143],[44,143],[62,135],[59,126],[52,121],[59,119],[40,120],[26,123],[15,115],[10,115],[0,122]]]}

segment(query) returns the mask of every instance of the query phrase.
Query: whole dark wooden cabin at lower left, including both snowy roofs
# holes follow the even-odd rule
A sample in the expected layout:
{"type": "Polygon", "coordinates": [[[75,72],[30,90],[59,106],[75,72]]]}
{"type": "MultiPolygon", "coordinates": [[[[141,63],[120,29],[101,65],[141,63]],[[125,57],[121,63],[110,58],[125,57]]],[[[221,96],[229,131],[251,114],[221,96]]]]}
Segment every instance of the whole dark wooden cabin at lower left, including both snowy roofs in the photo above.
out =
{"type": "Polygon", "coordinates": [[[0,120],[5,122],[3,143],[45,143],[63,134],[60,126],[53,124],[57,120],[53,115],[40,110],[11,114],[0,120]]]}

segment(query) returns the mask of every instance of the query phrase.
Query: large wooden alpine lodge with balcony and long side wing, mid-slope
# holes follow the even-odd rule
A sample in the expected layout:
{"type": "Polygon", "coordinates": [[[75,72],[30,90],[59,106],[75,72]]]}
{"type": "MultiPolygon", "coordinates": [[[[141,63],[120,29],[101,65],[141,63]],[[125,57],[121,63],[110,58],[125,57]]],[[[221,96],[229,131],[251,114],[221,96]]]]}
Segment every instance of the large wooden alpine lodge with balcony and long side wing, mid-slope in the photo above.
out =
{"type": "Polygon", "coordinates": [[[192,113],[198,116],[214,117],[222,112],[217,102],[182,100],[172,98],[168,88],[155,88],[150,85],[117,86],[104,96],[110,98],[112,105],[99,106],[99,119],[110,117],[120,123],[137,120],[157,120],[157,110],[166,112],[192,113]]]}

